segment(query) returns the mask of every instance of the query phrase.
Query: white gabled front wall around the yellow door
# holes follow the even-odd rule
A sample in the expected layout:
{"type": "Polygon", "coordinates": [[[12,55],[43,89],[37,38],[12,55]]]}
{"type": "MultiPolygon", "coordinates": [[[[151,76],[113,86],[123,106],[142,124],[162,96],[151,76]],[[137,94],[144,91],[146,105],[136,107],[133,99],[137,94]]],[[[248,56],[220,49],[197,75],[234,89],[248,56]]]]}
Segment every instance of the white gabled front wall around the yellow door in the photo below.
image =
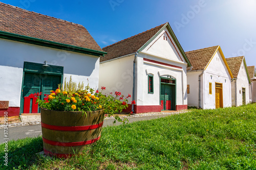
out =
{"type": "Polygon", "coordinates": [[[203,109],[215,109],[215,83],[222,84],[223,107],[231,107],[231,76],[218,51],[204,71],[203,109]],[[212,83],[212,94],[209,94],[209,83],[212,83]]]}

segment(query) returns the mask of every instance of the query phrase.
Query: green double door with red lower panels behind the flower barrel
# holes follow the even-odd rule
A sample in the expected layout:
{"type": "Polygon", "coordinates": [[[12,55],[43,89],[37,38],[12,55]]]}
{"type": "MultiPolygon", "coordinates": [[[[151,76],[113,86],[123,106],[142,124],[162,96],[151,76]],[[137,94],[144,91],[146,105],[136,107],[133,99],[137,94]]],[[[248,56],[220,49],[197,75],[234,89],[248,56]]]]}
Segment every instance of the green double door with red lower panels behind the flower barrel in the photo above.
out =
{"type": "Polygon", "coordinates": [[[26,113],[32,113],[31,111],[32,106],[34,106],[34,101],[31,99],[31,102],[24,102],[27,100],[26,97],[29,96],[30,98],[32,97],[31,94],[42,92],[40,99],[43,99],[45,97],[45,94],[50,94],[51,90],[56,90],[60,82],[61,76],[25,72],[22,94],[23,108],[21,112],[24,113],[24,111],[26,110],[26,113]]]}

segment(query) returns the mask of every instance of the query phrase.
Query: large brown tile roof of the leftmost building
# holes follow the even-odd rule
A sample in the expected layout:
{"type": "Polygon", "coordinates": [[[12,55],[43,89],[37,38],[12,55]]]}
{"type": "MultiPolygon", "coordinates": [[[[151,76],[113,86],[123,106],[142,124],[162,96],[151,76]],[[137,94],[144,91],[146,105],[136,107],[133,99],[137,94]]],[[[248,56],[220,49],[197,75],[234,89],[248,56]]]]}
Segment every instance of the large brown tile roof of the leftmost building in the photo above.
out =
{"type": "Polygon", "coordinates": [[[0,3],[0,31],[102,51],[81,25],[0,3]]]}

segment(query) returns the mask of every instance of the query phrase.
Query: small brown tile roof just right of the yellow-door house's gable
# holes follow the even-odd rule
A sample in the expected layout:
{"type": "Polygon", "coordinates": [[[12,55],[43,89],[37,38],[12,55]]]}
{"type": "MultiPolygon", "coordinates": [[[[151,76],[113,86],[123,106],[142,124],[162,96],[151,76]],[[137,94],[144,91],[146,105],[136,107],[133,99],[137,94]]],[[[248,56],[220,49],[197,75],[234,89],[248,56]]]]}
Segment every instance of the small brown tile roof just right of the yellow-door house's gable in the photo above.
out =
{"type": "Polygon", "coordinates": [[[243,62],[244,56],[226,58],[227,64],[232,72],[234,78],[238,77],[238,73],[243,62]]]}

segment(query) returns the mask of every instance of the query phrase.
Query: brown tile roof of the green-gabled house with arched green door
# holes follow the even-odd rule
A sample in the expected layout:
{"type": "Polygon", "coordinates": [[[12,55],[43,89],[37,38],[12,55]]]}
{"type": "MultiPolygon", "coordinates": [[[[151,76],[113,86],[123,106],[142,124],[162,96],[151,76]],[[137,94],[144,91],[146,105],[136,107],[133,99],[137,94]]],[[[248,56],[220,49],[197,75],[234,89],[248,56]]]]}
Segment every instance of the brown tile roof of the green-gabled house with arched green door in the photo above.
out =
{"type": "Polygon", "coordinates": [[[150,40],[163,26],[155,27],[143,33],[137,34],[130,38],[126,38],[112,45],[103,47],[102,50],[108,54],[100,57],[100,62],[111,60],[120,56],[137,52],[148,40],[150,40]]]}

